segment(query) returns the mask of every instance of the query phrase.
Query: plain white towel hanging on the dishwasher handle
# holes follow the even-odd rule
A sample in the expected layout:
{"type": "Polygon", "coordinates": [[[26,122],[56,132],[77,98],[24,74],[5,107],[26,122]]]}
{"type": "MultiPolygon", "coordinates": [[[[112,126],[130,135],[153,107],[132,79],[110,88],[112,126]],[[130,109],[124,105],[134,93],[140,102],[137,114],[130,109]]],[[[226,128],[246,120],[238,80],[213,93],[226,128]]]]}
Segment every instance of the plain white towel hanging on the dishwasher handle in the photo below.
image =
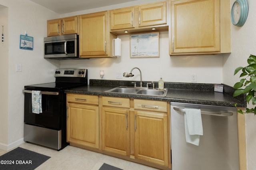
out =
{"type": "Polygon", "coordinates": [[[185,109],[184,114],[186,142],[199,146],[203,125],[200,109],[185,109]]]}

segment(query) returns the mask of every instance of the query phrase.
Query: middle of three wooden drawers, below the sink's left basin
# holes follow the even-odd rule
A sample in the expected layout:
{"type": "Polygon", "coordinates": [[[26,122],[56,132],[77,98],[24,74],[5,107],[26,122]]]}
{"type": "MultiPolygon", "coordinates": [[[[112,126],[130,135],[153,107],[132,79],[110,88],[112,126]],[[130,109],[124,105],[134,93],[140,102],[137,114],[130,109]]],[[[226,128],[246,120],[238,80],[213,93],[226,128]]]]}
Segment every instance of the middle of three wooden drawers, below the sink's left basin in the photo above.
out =
{"type": "Polygon", "coordinates": [[[130,108],[130,99],[121,97],[102,97],[103,106],[130,108]]]}

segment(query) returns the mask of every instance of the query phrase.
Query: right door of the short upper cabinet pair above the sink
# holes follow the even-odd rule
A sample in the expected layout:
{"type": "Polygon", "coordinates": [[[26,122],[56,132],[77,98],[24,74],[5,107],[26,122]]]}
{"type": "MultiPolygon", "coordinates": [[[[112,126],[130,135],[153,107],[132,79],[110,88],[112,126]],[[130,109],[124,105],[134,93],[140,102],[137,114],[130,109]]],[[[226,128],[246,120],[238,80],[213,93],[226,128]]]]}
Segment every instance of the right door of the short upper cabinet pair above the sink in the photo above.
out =
{"type": "Polygon", "coordinates": [[[166,24],[166,2],[138,7],[139,27],[166,24]]]}

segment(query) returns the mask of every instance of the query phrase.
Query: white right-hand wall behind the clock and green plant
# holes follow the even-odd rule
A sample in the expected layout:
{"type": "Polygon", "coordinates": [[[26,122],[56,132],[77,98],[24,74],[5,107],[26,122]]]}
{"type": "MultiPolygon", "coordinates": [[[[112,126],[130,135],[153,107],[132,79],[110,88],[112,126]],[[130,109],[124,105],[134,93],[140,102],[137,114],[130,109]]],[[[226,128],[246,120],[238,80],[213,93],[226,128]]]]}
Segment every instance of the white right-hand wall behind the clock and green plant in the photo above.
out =
{"type": "MultiPolygon", "coordinates": [[[[231,0],[231,6],[235,0],[231,0]]],[[[247,0],[249,6],[246,23],[242,27],[231,25],[232,53],[223,59],[223,83],[233,86],[239,81],[239,74],[234,76],[237,67],[248,65],[247,58],[250,54],[256,55],[256,1],[247,0]]],[[[251,106],[255,107],[255,106],[251,106]]],[[[256,117],[246,114],[246,147],[248,170],[256,169],[256,117]]]]}

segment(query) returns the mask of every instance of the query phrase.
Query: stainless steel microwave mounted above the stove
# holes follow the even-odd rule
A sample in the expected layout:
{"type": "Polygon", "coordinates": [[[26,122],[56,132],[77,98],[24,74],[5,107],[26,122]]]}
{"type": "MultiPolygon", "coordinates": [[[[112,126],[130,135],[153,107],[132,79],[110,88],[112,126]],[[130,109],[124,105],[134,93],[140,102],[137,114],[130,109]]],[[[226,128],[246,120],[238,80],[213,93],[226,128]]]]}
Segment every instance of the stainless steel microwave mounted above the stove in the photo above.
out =
{"type": "Polygon", "coordinates": [[[79,39],[77,34],[44,38],[44,58],[79,58],[79,39]]]}

